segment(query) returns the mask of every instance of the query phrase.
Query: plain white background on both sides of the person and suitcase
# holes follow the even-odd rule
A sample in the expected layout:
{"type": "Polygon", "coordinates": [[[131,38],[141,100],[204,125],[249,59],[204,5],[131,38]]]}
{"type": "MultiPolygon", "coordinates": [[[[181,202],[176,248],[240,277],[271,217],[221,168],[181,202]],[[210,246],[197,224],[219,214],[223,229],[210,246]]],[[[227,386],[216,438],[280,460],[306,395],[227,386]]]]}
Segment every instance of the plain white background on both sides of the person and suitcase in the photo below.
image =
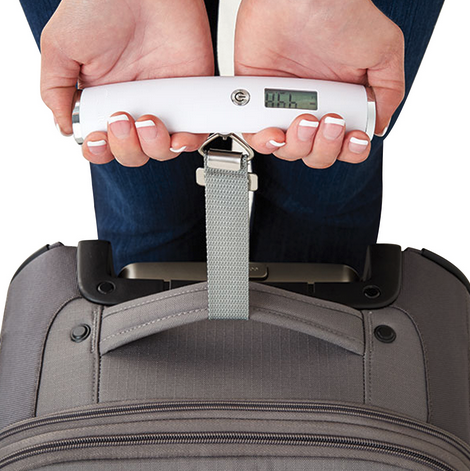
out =
{"type": "MultiPolygon", "coordinates": [[[[445,4],[386,142],[379,242],[426,247],[470,275],[470,2],[445,4]]],[[[39,247],[96,237],[87,162],[39,96],[40,57],[17,0],[0,2],[0,304],[39,247]]],[[[184,157],[183,157],[184,158],[184,157]]],[[[295,229],[294,229],[295,230],[295,229]]]]}

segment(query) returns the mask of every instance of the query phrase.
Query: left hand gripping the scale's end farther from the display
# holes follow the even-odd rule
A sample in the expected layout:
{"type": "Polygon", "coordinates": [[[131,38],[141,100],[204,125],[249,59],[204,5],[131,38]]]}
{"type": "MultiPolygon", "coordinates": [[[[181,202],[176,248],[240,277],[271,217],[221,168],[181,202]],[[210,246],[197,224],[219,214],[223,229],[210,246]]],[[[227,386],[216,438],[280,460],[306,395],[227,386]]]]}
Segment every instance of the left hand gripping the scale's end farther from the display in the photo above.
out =
{"type": "MultiPolygon", "coordinates": [[[[214,74],[203,0],[62,0],[41,36],[41,95],[63,134],[72,133],[75,86],[214,74]]],[[[118,111],[118,110],[117,110],[118,111]]],[[[108,132],[83,144],[94,163],[126,166],[195,150],[205,136],[170,136],[154,116],[113,115],[108,132]],[[184,148],[184,149],[183,149],[184,148]],[[170,150],[172,149],[172,150],[170,150]]]]}

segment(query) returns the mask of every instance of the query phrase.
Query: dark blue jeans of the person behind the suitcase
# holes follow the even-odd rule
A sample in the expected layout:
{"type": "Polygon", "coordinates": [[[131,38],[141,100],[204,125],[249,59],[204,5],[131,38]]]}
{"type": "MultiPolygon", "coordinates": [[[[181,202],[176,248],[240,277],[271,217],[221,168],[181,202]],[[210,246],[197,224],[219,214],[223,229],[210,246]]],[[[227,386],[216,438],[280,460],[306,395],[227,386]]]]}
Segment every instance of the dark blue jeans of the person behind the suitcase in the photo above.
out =
{"type": "MultiPolygon", "coordinates": [[[[405,36],[406,96],[443,1],[375,0],[405,36]]],[[[59,1],[21,3],[39,42],[59,1]]],[[[215,44],[217,2],[207,0],[206,6],[215,44]]],[[[361,271],[379,229],[382,156],[378,137],[364,163],[337,162],[326,170],[256,155],[260,187],[252,212],[251,260],[345,263],[361,271]]],[[[199,154],[186,153],[140,168],[116,161],[91,166],[98,235],[112,242],[117,269],[132,262],[205,260],[204,189],[195,182],[201,165],[199,154]]]]}

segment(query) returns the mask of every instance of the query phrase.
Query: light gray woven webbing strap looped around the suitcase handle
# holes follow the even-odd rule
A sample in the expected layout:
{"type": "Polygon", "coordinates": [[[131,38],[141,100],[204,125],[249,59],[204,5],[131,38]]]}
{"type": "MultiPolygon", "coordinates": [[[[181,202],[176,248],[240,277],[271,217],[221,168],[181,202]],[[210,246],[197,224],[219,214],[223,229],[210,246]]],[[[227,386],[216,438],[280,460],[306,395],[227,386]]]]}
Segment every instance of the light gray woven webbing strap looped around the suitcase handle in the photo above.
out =
{"type": "Polygon", "coordinates": [[[209,318],[248,319],[248,162],[242,158],[240,171],[220,170],[206,156],[204,171],[209,318]]]}

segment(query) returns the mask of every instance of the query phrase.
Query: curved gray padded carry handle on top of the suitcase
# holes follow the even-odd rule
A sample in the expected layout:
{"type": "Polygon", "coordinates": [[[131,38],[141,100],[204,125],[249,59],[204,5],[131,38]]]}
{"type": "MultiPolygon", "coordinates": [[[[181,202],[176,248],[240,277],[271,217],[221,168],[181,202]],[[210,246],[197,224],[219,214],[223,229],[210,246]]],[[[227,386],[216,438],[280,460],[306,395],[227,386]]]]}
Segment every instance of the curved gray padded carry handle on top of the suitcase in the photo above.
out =
{"type": "MultiPolygon", "coordinates": [[[[328,301],[250,284],[250,319],[302,332],[350,352],[364,352],[360,312],[328,301]]],[[[207,319],[207,284],[199,283],[105,308],[100,352],[207,319]]]]}

